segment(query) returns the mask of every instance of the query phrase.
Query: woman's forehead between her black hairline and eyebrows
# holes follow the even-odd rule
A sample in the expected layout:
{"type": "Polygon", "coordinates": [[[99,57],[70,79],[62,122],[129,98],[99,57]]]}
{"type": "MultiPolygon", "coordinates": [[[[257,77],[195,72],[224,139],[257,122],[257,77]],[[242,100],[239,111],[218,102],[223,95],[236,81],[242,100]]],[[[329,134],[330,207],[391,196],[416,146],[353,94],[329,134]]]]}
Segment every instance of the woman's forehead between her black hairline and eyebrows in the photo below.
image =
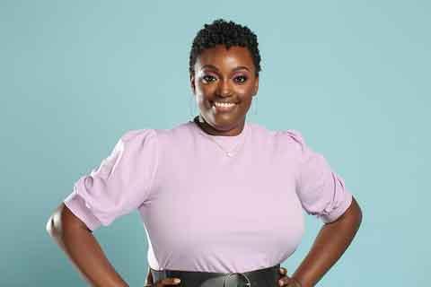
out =
{"type": "Polygon", "coordinates": [[[215,65],[219,69],[234,68],[245,65],[254,69],[253,59],[248,48],[233,46],[227,49],[224,45],[204,49],[196,60],[196,67],[215,65]]]}

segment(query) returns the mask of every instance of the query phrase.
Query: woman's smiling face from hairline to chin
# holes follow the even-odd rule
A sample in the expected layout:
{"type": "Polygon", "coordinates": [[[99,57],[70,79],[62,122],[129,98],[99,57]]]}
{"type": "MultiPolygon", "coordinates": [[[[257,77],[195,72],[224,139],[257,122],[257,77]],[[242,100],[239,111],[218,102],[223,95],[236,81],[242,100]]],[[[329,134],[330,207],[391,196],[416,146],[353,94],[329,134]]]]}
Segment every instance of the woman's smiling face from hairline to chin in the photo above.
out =
{"type": "Polygon", "coordinates": [[[224,45],[207,48],[199,55],[191,88],[201,117],[215,135],[238,135],[251,100],[259,89],[259,77],[249,50],[224,45]],[[222,104],[225,103],[225,104],[222,104]]]}

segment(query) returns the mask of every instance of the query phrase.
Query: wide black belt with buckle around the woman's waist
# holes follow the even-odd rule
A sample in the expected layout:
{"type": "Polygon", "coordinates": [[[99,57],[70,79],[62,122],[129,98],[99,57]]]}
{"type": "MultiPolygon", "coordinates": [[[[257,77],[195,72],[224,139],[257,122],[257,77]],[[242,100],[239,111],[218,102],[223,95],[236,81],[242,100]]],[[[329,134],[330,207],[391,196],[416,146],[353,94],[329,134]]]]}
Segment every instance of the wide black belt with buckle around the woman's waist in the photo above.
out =
{"type": "Polygon", "coordinates": [[[150,268],[153,282],[168,277],[180,278],[178,287],[274,287],[281,278],[280,264],[244,273],[216,273],[180,270],[154,270],[150,268]]]}

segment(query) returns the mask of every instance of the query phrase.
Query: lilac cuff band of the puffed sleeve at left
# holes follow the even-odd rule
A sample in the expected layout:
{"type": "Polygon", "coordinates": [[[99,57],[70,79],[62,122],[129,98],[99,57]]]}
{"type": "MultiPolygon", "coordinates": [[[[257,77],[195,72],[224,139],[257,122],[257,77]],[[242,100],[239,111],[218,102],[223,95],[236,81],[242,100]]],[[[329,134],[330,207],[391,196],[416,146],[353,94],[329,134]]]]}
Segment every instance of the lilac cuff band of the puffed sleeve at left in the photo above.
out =
{"type": "Polygon", "coordinates": [[[75,192],[71,193],[63,201],[72,213],[75,214],[90,230],[96,230],[101,226],[101,222],[92,214],[92,211],[85,205],[84,199],[75,192]]]}

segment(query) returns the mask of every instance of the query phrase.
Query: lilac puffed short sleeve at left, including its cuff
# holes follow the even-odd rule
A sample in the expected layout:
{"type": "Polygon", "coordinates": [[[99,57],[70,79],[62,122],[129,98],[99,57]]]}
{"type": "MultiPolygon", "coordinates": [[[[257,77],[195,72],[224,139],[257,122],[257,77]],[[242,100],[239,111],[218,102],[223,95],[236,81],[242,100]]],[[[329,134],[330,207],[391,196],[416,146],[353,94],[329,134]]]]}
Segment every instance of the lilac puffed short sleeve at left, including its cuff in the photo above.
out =
{"type": "Polygon", "coordinates": [[[145,202],[156,168],[154,129],[128,131],[96,169],[75,182],[64,203],[90,230],[108,226],[145,202]]]}

